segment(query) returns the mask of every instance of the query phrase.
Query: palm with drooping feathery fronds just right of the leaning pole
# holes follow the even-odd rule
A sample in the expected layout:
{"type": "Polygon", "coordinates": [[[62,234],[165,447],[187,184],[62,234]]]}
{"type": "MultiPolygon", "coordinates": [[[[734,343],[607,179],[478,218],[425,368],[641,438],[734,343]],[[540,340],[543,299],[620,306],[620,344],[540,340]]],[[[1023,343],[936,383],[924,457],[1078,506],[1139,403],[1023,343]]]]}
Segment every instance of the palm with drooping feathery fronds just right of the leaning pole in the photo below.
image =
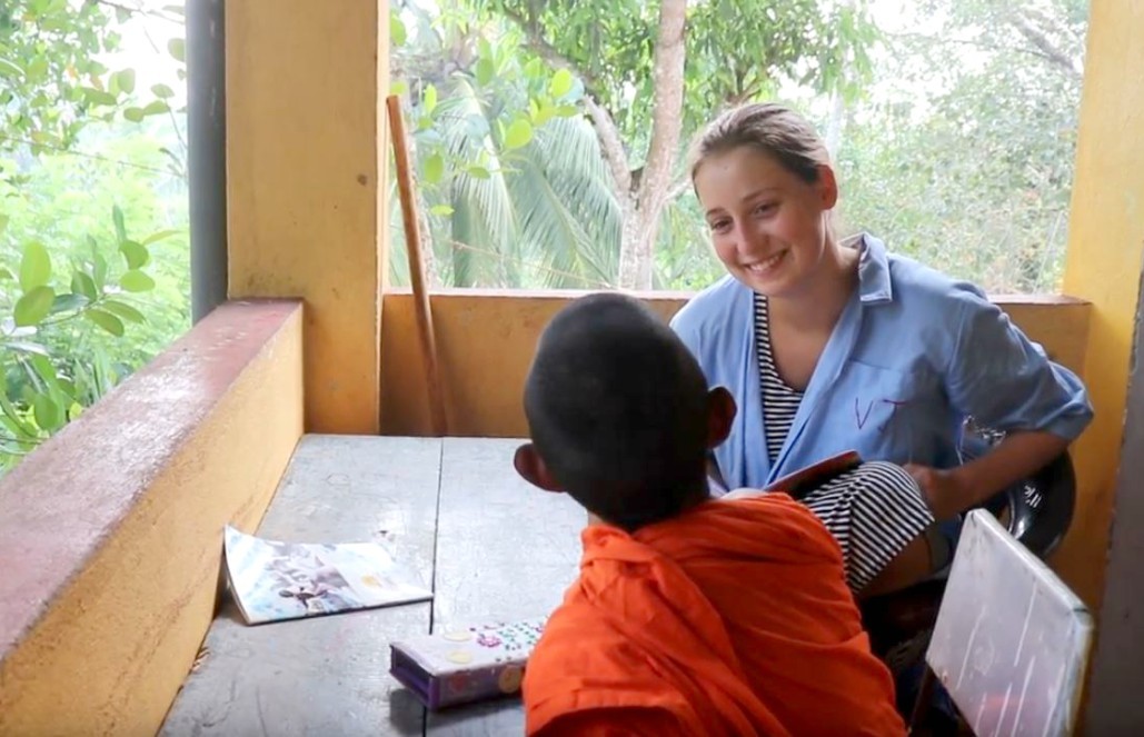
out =
{"type": "MultiPolygon", "coordinates": [[[[620,211],[591,124],[579,113],[553,117],[523,145],[507,145],[502,119],[527,109],[518,89],[480,87],[455,73],[440,94],[432,125],[414,134],[436,279],[459,287],[612,285],[620,211]]],[[[394,241],[404,244],[396,195],[391,189],[390,222],[394,241]]],[[[394,256],[392,278],[403,283],[404,247],[394,256]]]]}

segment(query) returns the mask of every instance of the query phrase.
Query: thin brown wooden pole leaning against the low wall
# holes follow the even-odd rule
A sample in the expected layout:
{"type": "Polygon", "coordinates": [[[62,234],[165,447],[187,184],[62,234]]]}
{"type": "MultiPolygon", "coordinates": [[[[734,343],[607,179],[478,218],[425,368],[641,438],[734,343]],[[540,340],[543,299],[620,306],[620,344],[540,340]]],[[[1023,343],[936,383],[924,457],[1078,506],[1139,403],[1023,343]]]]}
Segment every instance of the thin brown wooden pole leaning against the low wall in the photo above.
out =
{"type": "Polygon", "coordinates": [[[397,189],[402,197],[402,221],[405,227],[406,251],[410,255],[410,282],[413,285],[413,303],[418,316],[418,332],[421,335],[421,358],[429,388],[429,413],[434,435],[442,437],[447,434],[448,426],[442,399],[440,372],[437,367],[437,339],[434,334],[429,293],[426,290],[424,263],[421,260],[421,230],[418,227],[416,197],[413,190],[408,142],[405,137],[405,120],[402,117],[402,102],[397,95],[386,98],[386,108],[389,111],[389,130],[394,140],[397,189]]]}

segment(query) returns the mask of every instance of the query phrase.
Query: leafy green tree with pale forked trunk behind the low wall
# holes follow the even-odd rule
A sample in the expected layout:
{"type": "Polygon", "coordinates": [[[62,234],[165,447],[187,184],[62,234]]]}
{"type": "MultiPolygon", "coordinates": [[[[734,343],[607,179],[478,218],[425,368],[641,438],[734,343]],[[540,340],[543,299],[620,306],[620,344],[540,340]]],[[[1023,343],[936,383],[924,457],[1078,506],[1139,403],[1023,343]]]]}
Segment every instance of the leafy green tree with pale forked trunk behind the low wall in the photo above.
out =
{"type": "MultiPolygon", "coordinates": [[[[408,3],[405,9],[410,14],[415,8],[408,3]]],[[[505,65],[498,48],[506,39],[523,45],[523,55],[513,54],[522,69],[537,70],[540,60],[540,69],[556,70],[556,76],[545,71],[530,79],[557,89],[571,82],[564,98],[556,101],[556,114],[574,104],[590,121],[614,201],[606,212],[594,211],[597,219],[607,220],[607,232],[619,236],[618,241],[605,241],[617,253],[615,271],[605,282],[636,288],[652,286],[665,208],[686,189],[678,166],[684,136],[722,106],[771,93],[784,80],[855,93],[867,65],[867,45],[875,38],[860,2],[825,8],[815,0],[464,0],[442,17],[448,22],[437,27],[450,30],[437,35],[443,64],[436,76],[428,74],[435,80],[434,94],[440,81],[458,76],[475,79],[478,88],[484,80],[500,81],[505,65]]],[[[405,31],[402,26],[398,33],[405,31]]],[[[427,71],[418,61],[429,57],[413,54],[395,68],[414,79],[427,71]]],[[[424,89],[411,90],[421,108],[424,89]]],[[[495,104],[486,109],[496,113],[494,119],[505,110],[522,110],[495,104]]],[[[531,113],[526,122],[537,129],[535,113],[545,118],[549,109],[539,104],[533,110],[530,104],[524,110],[531,113]]],[[[508,125],[523,129],[516,120],[508,125]]],[[[434,166],[431,172],[437,171],[434,166]]],[[[675,216],[666,221],[682,222],[675,216]]],[[[605,264],[602,257],[593,261],[605,264]]]]}

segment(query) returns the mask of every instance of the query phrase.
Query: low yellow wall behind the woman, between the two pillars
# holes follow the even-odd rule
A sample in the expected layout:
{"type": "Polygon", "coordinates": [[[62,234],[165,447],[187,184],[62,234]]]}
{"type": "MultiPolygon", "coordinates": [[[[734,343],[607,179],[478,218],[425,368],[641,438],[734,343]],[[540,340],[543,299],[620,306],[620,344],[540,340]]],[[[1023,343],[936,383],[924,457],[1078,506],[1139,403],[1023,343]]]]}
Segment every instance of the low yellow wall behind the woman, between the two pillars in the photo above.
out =
{"type": "MultiPolygon", "coordinates": [[[[526,434],[521,391],[532,352],[548,320],[583,292],[434,293],[432,315],[451,435],[519,437],[526,434]]],[[[686,295],[641,295],[665,319],[686,295]]],[[[999,298],[1033,340],[1064,365],[1083,364],[1089,306],[1066,298],[999,298]]],[[[382,403],[386,435],[428,435],[424,368],[413,298],[387,293],[382,330],[382,403]]]]}

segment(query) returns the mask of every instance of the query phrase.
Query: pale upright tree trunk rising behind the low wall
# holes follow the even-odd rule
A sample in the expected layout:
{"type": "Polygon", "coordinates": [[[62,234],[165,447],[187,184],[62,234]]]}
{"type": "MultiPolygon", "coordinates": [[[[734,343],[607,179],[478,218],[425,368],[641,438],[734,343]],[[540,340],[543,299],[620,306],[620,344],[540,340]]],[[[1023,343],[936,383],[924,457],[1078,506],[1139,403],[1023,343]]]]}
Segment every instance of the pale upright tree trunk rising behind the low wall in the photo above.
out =
{"type": "MultiPolygon", "coordinates": [[[[659,220],[672,189],[672,171],[683,126],[686,9],[686,0],[662,0],[659,8],[659,35],[652,60],[652,133],[648,164],[637,191],[633,192],[629,185],[626,192],[618,192],[625,198],[620,203],[625,215],[620,240],[621,288],[650,290],[652,286],[659,220]]],[[[630,176],[628,180],[630,182],[630,176]]]]}

